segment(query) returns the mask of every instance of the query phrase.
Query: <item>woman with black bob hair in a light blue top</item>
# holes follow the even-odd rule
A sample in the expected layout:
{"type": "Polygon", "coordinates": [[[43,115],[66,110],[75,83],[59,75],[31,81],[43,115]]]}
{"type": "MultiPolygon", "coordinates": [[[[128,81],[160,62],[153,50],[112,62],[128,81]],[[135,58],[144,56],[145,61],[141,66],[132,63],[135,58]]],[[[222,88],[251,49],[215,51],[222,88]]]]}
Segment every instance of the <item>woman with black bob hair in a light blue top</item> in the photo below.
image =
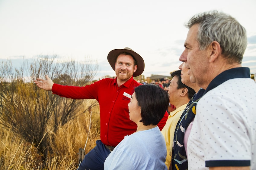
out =
{"type": "Polygon", "coordinates": [[[139,85],[128,104],[137,131],[127,135],[109,154],[104,169],[166,170],[165,139],[157,124],[169,105],[168,93],[157,85],[139,85]]]}

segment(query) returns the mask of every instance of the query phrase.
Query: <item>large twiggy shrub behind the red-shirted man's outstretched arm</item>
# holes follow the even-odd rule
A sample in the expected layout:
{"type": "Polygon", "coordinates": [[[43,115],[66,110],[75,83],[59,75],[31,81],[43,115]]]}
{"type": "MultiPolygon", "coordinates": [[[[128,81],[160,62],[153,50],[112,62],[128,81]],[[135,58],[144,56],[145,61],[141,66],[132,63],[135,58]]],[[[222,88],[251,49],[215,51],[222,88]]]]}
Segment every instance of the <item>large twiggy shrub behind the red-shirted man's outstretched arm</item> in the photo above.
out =
{"type": "MultiPolygon", "coordinates": [[[[43,158],[53,154],[50,142],[58,129],[87,111],[83,103],[51,94],[38,88],[33,80],[48,75],[62,85],[84,86],[95,76],[98,65],[91,60],[56,62],[55,57],[40,56],[13,68],[11,61],[0,65],[0,124],[38,146],[43,158]],[[53,133],[49,133],[52,131],[53,133]]],[[[95,105],[95,101],[94,101],[95,105]]]]}

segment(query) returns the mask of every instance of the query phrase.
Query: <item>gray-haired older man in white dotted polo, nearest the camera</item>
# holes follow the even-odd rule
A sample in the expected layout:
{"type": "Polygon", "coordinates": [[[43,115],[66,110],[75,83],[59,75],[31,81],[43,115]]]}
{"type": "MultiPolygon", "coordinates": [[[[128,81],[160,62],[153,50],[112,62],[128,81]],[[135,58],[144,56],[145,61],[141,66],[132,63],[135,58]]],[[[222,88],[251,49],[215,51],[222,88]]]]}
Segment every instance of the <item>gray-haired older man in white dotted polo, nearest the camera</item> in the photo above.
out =
{"type": "Polygon", "coordinates": [[[242,67],[245,28],[228,14],[195,15],[180,61],[206,89],[188,138],[188,169],[256,169],[256,84],[242,67]]]}

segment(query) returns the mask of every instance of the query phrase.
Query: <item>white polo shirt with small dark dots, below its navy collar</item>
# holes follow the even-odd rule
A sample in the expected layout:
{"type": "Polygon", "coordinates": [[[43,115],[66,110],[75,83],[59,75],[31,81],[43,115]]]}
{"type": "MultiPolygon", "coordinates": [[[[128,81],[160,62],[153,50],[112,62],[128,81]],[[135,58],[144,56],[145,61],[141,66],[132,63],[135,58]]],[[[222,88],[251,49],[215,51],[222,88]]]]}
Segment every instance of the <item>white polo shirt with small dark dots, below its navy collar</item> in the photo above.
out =
{"type": "Polygon", "coordinates": [[[256,84],[252,79],[229,79],[203,95],[188,138],[188,169],[251,166],[256,170],[255,145],[256,84]]]}

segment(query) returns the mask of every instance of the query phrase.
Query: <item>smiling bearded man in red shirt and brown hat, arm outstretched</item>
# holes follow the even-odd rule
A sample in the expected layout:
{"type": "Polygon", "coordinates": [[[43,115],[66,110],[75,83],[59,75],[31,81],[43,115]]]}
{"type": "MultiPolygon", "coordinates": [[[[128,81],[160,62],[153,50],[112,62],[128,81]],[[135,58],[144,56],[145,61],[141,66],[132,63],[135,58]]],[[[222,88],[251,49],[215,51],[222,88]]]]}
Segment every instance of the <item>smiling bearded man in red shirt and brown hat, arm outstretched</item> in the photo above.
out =
{"type": "MultiPolygon", "coordinates": [[[[105,78],[84,87],[63,86],[45,79],[34,80],[39,88],[51,90],[53,94],[72,99],[96,99],[100,105],[101,140],[85,155],[79,170],[104,169],[104,161],[124,136],[134,133],[136,123],[130,120],[128,103],[134,88],[141,85],[133,77],[144,71],[144,60],[130,48],[115,49],[109,52],[107,60],[115,70],[115,79],[105,78]]],[[[160,130],[165,125],[168,113],[158,123],[160,130]]]]}

